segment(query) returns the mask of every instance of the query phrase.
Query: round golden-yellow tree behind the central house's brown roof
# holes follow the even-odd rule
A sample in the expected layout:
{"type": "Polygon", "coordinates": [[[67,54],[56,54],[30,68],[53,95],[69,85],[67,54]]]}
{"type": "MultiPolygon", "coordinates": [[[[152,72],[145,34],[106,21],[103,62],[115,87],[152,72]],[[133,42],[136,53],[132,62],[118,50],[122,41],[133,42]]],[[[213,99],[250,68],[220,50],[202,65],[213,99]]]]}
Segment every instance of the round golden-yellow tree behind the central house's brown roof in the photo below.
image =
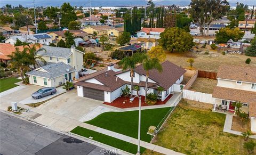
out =
{"type": "Polygon", "coordinates": [[[150,51],[147,52],[150,59],[157,58],[160,62],[165,61],[166,54],[162,46],[152,47],[150,51]]]}

